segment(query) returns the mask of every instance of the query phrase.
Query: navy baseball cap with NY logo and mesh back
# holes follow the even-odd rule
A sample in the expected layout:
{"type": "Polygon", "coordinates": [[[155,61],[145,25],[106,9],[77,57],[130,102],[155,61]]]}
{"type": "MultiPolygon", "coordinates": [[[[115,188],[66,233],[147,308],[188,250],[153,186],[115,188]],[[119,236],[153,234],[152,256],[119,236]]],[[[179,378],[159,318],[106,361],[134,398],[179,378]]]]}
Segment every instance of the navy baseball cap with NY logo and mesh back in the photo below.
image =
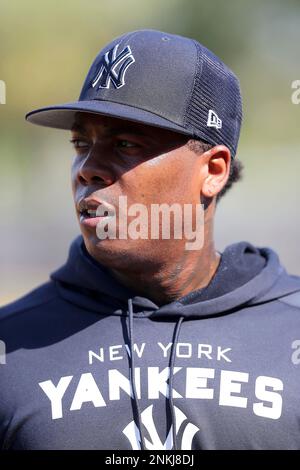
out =
{"type": "Polygon", "coordinates": [[[78,101],[31,111],[26,119],[41,126],[71,129],[78,112],[224,144],[234,157],[242,101],[234,73],[199,42],[140,30],[114,39],[99,52],[78,101]]]}

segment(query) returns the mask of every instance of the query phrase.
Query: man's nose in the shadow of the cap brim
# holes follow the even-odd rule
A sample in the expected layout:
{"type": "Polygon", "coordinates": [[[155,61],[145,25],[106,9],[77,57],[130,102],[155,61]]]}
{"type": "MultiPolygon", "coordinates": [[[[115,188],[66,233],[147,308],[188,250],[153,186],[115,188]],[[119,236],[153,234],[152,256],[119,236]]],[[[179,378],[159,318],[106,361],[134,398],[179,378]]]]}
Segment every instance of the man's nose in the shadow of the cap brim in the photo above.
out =
{"type": "Polygon", "coordinates": [[[99,157],[99,154],[97,155],[97,152],[93,149],[79,164],[76,179],[84,186],[92,184],[110,186],[115,181],[113,172],[105,162],[104,157],[99,157]]]}

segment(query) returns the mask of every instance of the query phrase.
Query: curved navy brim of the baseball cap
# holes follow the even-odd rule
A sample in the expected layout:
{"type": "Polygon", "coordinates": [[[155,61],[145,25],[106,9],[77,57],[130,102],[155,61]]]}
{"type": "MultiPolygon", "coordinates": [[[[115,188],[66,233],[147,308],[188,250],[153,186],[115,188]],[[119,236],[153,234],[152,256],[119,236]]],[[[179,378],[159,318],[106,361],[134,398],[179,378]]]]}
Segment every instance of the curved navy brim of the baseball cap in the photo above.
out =
{"type": "Polygon", "coordinates": [[[65,103],[36,109],[26,114],[26,119],[27,121],[39,126],[70,130],[75,123],[75,117],[78,112],[94,113],[103,116],[126,119],[128,121],[139,122],[185,135],[191,135],[191,133],[182,126],[149,111],[102,100],[75,101],[73,103],[65,103]]]}

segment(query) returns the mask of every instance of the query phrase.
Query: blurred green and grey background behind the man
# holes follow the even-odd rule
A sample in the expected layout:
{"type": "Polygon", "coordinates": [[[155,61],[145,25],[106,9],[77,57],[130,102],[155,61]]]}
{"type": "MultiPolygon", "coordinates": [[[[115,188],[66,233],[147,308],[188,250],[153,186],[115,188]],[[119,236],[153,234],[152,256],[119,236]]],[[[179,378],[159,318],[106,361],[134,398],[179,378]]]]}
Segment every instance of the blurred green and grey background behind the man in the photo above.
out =
{"type": "Polygon", "coordinates": [[[239,76],[244,179],[217,210],[217,247],[271,246],[300,274],[299,0],[0,0],[0,18],[1,304],[46,280],[79,232],[69,134],[28,124],[25,113],[77,98],[101,47],[141,28],[194,37],[239,76]]]}

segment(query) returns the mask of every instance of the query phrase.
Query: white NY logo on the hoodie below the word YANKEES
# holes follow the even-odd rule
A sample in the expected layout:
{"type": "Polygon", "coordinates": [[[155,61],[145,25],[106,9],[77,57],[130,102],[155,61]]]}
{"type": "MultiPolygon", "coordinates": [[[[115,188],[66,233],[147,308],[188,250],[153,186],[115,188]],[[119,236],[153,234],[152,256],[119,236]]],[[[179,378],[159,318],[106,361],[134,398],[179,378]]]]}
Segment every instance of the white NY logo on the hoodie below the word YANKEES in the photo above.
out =
{"type": "MultiPolygon", "coordinates": [[[[174,407],[175,410],[175,417],[176,417],[176,435],[178,435],[180,427],[183,425],[184,421],[187,420],[185,414],[176,406],[174,407]]],[[[161,441],[154,420],[153,420],[153,405],[148,406],[142,413],[141,413],[141,421],[145,428],[147,429],[151,441],[145,438],[145,444],[147,450],[171,450],[173,448],[173,425],[170,427],[168,436],[165,442],[161,441]]],[[[187,422],[182,432],[181,438],[181,450],[191,450],[192,442],[195,434],[199,431],[199,428],[194,424],[187,422]]],[[[131,421],[126,428],[123,429],[123,434],[129,440],[132,450],[140,450],[141,449],[141,442],[140,442],[140,432],[135,424],[134,421],[131,421]]]]}

